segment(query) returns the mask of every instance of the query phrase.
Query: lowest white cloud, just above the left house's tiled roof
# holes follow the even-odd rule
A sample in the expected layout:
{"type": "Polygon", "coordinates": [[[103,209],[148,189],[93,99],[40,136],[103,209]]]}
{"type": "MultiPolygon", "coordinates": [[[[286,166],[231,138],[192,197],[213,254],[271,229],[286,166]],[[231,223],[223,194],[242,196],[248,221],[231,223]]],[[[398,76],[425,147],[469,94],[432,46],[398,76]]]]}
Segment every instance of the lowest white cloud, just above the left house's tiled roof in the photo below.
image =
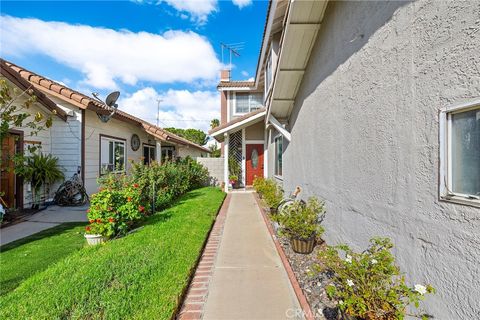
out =
{"type": "Polygon", "coordinates": [[[196,128],[207,132],[210,120],[220,118],[220,97],[216,91],[168,90],[147,87],[120,99],[121,110],[150,123],[156,123],[160,102],[160,126],[196,128]]]}

